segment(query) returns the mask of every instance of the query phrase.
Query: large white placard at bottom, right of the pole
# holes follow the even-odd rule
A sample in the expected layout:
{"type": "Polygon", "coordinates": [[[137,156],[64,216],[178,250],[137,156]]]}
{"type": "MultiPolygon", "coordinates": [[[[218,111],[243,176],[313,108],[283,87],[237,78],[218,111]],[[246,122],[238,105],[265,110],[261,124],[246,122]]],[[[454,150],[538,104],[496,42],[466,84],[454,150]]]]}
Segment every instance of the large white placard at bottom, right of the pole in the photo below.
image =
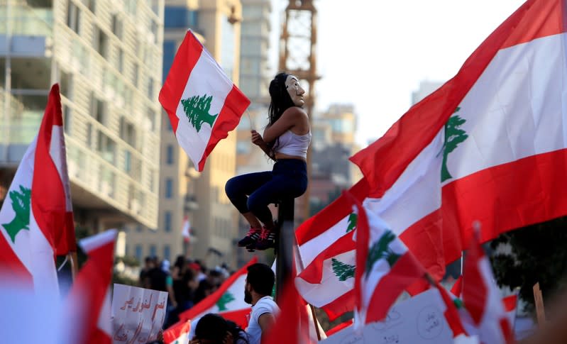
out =
{"type": "Polygon", "coordinates": [[[445,304],[436,289],[429,289],[392,306],[384,321],[369,323],[362,335],[349,326],[321,344],[453,344],[453,333],[443,312],[445,304]]]}

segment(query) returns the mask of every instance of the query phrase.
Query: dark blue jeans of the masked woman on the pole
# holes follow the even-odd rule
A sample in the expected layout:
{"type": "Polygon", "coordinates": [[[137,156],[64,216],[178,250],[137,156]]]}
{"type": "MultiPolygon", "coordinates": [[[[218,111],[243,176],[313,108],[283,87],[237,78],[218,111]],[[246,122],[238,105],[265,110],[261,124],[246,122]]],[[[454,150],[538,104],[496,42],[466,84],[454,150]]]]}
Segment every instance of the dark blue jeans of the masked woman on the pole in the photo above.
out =
{"type": "Polygon", "coordinates": [[[299,197],[307,190],[307,164],[299,159],[282,159],[272,171],[242,174],[226,182],[226,196],[240,213],[251,211],[262,223],[272,221],[268,204],[299,197]]]}

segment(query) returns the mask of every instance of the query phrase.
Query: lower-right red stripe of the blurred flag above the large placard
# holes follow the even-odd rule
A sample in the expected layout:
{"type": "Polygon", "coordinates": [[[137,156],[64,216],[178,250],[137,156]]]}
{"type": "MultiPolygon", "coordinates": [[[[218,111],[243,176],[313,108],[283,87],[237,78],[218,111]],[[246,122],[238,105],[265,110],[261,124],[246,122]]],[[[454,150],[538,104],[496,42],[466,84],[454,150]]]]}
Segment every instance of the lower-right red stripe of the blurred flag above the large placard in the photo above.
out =
{"type": "MultiPolygon", "coordinates": [[[[364,266],[364,265],[358,265],[364,266]]],[[[362,270],[362,269],[357,269],[362,270]]],[[[392,269],[385,274],[376,285],[366,313],[365,323],[382,321],[388,310],[394,304],[398,296],[415,282],[423,277],[422,265],[415,259],[411,252],[407,252],[397,260],[392,269]]]]}

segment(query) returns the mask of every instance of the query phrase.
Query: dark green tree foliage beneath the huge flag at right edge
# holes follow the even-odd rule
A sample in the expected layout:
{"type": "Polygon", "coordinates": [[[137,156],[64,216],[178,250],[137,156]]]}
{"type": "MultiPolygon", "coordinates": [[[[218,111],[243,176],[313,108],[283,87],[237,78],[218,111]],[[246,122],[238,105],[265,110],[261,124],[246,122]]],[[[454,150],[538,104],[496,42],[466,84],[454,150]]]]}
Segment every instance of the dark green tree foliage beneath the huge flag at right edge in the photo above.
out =
{"type": "MultiPolygon", "coordinates": [[[[492,255],[492,268],[498,285],[519,287],[519,296],[534,310],[534,284],[539,282],[544,300],[566,287],[567,217],[507,232],[490,246],[510,245],[511,254],[492,255]]],[[[547,302],[549,304],[549,302],[547,302]]]]}

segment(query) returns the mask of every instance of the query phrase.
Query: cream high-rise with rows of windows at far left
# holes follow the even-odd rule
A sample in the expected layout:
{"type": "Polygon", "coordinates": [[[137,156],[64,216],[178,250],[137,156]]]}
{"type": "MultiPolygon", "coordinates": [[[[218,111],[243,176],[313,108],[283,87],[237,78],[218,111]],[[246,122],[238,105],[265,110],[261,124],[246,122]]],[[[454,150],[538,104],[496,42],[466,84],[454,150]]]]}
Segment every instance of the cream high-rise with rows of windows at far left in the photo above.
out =
{"type": "Polygon", "coordinates": [[[77,223],[155,228],[163,0],[7,0],[0,22],[4,187],[59,82],[77,223]]]}

